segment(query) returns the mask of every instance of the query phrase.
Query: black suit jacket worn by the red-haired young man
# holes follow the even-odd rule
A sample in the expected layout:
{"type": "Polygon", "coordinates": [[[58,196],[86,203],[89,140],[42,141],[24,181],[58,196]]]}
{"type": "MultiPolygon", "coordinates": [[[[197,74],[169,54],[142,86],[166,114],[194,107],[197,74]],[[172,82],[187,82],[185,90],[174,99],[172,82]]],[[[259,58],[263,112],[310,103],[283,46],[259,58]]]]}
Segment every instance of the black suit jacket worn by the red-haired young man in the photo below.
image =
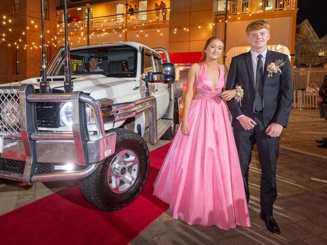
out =
{"type": "MultiPolygon", "coordinates": [[[[252,64],[251,52],[237,55],[231,59],[231,64],[227,76],[226,90],[232,90],[236,85],[241,85],[244,90],[242,106],[235,99],[227,102],[232,114],[232,126],[243,129],[236,117],[246,115],[254,117],[255,101],[255,75],[252,64]]],[[[288,56],[274,51],[267,51],[264,65],[264,85],[263,85],[263,123],[267,127],[271,123],[278,123],[287,126],[289,114],[292,106],[292,74],[288,56]],[[285,61],[280,67],[282,73],[273,73],[268,77],[267,65],[277,60],[285,61]]]]}

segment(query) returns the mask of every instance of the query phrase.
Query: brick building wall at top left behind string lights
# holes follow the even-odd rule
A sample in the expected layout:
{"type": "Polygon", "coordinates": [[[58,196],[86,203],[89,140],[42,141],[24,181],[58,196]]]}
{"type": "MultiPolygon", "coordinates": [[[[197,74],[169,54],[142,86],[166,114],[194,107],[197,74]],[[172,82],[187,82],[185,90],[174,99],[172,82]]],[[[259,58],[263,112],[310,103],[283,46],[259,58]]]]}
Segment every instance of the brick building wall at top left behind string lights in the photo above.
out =
{"type": "MultiPolygon", "coordinates": [[[[19,13],[14,15],[14,1],[3,0],[2,14],[6,16],[6,25],[0,25],[0,83],[9,83],[38,76],[41,69],[41,5],[40,0],[19,1],[19,13]],[[9,19],[11,22],[9,22],[9,19]],[[33,24],[31,22],[34,22],[33,24]],[[37,28],[35,28],[37,25],[37,28]],[[27,29],[29,27],[29,29],[27,29]],[[12,31],[10,31],[11,29],[12,31]],[[23,35],[23,32],[25,35],[23,35]],[[3,34],[5,33],[5,37],[3,34]],[[5,41],[2,40],[5,38],[5,41]],[[21,41],[19,41],[21,40],[21,41]],[[17,43],[15,45],[15,42],[17,43]],[[31,46],[37,45],[38,48],[31,46]],[[10,46],[9,46],[10,44],[10,46]],[[27,45],[26,49],[24,49],[27,45]],[[17,48],[18,46],[18,48],[17,48]],[[19,74],[16,74],[16,52],[19,52],[19,74]]],[[[48,20],[45,20],[45,40],[51,40],[56,34],[56,3],[48,1],[48,20]],[[48,32],[49,31],[49,32],[48,32]]],[[[3,20],[1,16],[1,20],[3,20]]],[[[49,59],[56,48],[48,48],[49,59]]]]}

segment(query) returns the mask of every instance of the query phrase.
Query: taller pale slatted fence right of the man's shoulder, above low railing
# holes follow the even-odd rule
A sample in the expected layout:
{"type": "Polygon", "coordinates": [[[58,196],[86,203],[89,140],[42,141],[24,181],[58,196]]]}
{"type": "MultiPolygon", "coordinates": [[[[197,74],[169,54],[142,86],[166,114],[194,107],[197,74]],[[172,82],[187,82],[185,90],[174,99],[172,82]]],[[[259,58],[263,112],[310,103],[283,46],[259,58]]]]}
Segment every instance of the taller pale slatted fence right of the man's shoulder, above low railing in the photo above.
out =
{"type": "Polygon", "coordinates": [[[312,83],[320,87],[326,74],[323,67],[296,67],[293,72],[293,90],[305,90],[312,83]]]}

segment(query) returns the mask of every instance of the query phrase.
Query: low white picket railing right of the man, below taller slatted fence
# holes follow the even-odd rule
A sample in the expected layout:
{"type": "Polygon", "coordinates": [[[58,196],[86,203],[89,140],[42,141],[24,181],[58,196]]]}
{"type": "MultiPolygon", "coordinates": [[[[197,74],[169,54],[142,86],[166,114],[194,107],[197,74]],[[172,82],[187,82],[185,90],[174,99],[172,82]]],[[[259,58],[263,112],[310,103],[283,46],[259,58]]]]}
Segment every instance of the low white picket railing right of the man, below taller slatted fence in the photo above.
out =
{"type": "Polygon", "coordinates": [[[293,108],[319,108],[315,93],[305,91],[293,91],[293,108]]]}

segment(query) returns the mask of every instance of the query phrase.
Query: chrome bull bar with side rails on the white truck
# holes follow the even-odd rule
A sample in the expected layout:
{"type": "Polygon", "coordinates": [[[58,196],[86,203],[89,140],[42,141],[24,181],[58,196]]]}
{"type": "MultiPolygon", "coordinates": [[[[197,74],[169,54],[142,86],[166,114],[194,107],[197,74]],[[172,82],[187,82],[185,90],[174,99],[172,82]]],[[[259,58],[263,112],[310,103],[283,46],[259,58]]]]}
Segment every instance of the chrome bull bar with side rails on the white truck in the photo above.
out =
{"type": "Polygon", "coordinates": [[[32,184],[87,177],[97,169],[102,159],[115,152],[116,133],[106,133],[104,124],[135,117],[145,111],[149,112],[149,141],[152,145],[157,141],[156,100],[153,96],[134,102],[112,104],[104,108],[95,99],[81,92],[35,94],[32,85],[22,85],[18,91],[20,135],[5,136],[4,141],[7,142],[8,147],[4,148],[0,156],[25,161],[24,173],[0,170],[0,178],[32,184]],[[72,132],[39,132],[36,123],[36,102],[71,102],[72,132]],[[90,105],[94,112],[97,135],[89,135],[85,113],[86,104],[90,105]],[[103,117],[103,110],[110,111],[110,114],[103,117]],[[86,168],[71,172],[33,174],[36,164],[46,162],[73,163],[86,166],[86,168]]]}

